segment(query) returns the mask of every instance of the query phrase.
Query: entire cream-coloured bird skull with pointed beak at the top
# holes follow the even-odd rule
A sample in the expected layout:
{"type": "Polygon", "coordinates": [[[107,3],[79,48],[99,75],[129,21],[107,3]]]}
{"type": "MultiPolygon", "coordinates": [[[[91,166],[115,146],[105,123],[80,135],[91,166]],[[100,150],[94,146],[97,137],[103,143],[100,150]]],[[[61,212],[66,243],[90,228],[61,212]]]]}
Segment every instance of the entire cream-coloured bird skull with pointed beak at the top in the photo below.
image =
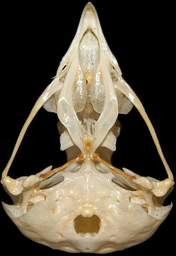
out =
{"type": "Polygon", "coordinates": [[[31,240],[68,252],[108,253],[147,240],[168,216],[162,206],[173,175],[141,101],[121,77],[98,15],[87,3],[57,75],[35,103],[20,132],[1,183],[14,201],[5,212],[31,240]],[[135,106],[145,120],[168,178],[141,177],[111,164],[118,114],[135,106]],[[8,170],[40,107],[59,118],[68,162],[12,179],[8,170]]]}

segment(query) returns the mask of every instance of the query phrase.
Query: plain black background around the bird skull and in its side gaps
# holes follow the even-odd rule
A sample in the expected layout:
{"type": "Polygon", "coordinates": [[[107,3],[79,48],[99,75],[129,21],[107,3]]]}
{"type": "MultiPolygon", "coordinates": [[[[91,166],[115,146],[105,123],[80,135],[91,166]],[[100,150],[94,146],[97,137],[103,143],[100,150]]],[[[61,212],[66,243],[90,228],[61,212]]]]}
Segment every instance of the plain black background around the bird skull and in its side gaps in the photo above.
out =
{"type": "MultiPolygon", "coordinates": [[[[8,1],[1,4],[0,169],[12,153],[35,101],[55,76],[76,33],[87,1],[8,1]]],[[[175,16],[170,1],[92,1],[123,78],[141,99],[175,174],[175,16]]],[[[165,179],[166,172],[149,131],[135,108],[119,116],[121,136],[113,164],[143,176],[165,179]]],[[[31,123],[9,175],[31,175],[66,162],[59,150],[57,116],[40,110],[31,123]]],[[[1,186],[1,201],[11,203],[1,186]]],[[[175,203],[175,191],[165,205],[175,203]]],[[[175,204],[146,242],[121,251],[162,253],[175,248],[175,204]]],[[[25,238],[1,207],[1,238],[6,252],[61,254],[25,238]]],[[[116,253],[113,253],[114,255],[116,253]]],[[[65,255],[69,255],[65,253],[65,255]]]]}

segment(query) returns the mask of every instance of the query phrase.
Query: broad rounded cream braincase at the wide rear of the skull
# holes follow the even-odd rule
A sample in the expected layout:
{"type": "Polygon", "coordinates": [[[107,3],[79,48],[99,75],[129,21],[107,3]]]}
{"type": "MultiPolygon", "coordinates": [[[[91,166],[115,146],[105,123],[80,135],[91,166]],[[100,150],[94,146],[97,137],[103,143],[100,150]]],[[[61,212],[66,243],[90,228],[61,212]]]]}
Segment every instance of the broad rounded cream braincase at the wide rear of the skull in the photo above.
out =
{"type": "Polygon", "coordinates": [[[61,251],[109,253],[147,240],[171,210],[151,190],[123,177],[118,185],[110,170],[102,173],[92,162],[74,167],[40,183],[41,172],[32,175],[35,183],[30,180],[18,203],[3,203],[27,238],[61,251]]]}

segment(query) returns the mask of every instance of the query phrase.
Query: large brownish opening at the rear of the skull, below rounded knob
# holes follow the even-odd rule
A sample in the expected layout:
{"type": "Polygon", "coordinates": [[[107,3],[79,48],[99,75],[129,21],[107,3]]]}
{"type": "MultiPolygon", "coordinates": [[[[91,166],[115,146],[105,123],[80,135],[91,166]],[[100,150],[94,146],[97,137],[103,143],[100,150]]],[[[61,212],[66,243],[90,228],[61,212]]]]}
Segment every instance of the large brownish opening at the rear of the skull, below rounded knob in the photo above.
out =
{"type": "Polygon", "coordinates": [[[92,217],[83,217],[78,215],[74,219],[74,229],[78,235],[91,235],[95,236],[100,230],[101,220],[97,215],[92,217]]]}

